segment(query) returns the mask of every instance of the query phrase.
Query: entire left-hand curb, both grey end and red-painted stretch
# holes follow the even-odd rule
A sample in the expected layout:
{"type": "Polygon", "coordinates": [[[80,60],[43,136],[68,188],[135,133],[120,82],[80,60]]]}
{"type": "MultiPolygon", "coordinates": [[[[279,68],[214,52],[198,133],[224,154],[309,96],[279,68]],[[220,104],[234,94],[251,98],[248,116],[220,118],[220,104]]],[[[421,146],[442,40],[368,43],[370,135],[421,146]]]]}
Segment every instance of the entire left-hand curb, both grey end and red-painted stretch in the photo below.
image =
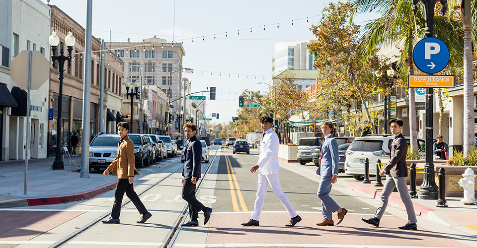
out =
{"type": "Polygon", "coordinates": [[[84,200],[94,197],[98,194],[107,192],[116,187],[116,182],[111,182],[107,185],[99,186],[87,191],[74,193],[74,194],[64,194],[56,196],[47,196],[41,198],[17,198],[9,199],[0,202],[0,208],[7,207],[24,207],[24,206],[39,206],[39,205],[50,205],[50,204],[60,204],[67,203],[77,200],[84,200]]]}

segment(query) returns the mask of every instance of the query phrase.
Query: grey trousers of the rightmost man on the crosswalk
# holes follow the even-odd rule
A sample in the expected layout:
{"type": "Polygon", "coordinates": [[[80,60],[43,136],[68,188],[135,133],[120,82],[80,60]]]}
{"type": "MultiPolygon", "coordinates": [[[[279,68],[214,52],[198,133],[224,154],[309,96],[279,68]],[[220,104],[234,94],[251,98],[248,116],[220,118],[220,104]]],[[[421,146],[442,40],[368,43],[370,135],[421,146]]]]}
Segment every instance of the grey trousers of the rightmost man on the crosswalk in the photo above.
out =
{"type": "Polygon", "coordinates": [[[416,213],[414,212],[414,206],[412,205],[411,198],[409,197],[409,191],[407,191],[407,184],[405,177],[393,178],[388,176],[386,183],[383,187],[383,192],[381,192],[381,202],[379,207],[374,214],[374,217],[381,219],[383,217],[384,211],[388,206],[388,199],[394,188],[397,187],[397,192],[401,196],[401,200],[406,207],[407,220],[409,223],[414,224],[417,222],[416,213]]]}

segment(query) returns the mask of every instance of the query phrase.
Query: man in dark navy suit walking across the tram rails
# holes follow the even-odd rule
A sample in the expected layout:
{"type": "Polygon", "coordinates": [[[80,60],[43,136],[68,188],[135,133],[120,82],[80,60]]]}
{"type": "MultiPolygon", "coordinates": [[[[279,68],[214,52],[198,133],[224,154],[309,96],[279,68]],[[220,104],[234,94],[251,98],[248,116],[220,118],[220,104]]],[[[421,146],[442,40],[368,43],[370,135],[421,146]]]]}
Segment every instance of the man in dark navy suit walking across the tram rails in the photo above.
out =
{"type": "Polygon", "coordinates": [[[200,140],[195,136],[197,126],[192,123],[186,123],[183,126],[185,136],[188,139],[187,146],[183,148],[182,152],[185,152],[184,170],[182,171],[182,199],[189,203],[189,217],[190,220],[187,223],[182,224],[183,227],[198,226],[199,217],[198,211],[204,212],[204,225],[210,219],[210,213],[212,208],[204,206],[200,201],[195,198],[195,185],[200,178],[200,169],[202,163],[202,144],[200,140]]]}

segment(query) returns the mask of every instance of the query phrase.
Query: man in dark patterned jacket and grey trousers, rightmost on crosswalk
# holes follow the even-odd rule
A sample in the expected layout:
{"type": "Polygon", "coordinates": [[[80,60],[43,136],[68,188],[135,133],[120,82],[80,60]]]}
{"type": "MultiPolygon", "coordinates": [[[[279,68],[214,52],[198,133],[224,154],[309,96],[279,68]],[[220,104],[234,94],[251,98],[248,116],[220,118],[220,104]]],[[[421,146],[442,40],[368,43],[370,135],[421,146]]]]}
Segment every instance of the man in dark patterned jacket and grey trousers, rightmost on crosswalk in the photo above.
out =
{"type": "Polygon", "coordinates": [[[386,207],[388,206],[389,196],[393,192],[394,188],[397,187],[397,192],[399,193],[401,200],[406,207],[408,220],[407,224],[398,228],[404,230],[417,230],[416,213],[414,211],[411,198],[409,197],[409,192],[407,191],[407,142],[401,133],[402,124],[403,122],[400,119],[392,119],[389,121],[391,133],[394,134],[393,141],[391,142],[391,159],[383,168],[383,170],[379,172],[381,177],[384,177],[385,174],[388,175],[388,177],[386,179],[386,183],[384,184],[383,191],[381,192],[381,202],[379,203],[374,217],[362,220],[375,227],[379,227],[379,222],[383,217],[386,207]]]}

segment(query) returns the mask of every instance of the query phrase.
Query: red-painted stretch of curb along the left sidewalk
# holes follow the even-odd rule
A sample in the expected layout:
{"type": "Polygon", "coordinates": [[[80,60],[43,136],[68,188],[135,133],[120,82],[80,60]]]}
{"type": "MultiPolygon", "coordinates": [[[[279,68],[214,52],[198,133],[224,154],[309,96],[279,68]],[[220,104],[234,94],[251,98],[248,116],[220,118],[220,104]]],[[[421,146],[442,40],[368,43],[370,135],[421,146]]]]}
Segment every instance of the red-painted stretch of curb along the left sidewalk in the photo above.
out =
{"type": "Polygon", "coordinates": [[[50,205],[50,204],[60,204],[67,203],[76,200],[89,199],[98,194],[104,193],[116,187],[116,182],[109,183],[107,185],[99,186],[91,190],[75,193],[75,194],[64,194],[56,196],[48,196],[43,198],[22,198],[28,200],[29,206],[39,206],[39,205],[50,205]]]}

